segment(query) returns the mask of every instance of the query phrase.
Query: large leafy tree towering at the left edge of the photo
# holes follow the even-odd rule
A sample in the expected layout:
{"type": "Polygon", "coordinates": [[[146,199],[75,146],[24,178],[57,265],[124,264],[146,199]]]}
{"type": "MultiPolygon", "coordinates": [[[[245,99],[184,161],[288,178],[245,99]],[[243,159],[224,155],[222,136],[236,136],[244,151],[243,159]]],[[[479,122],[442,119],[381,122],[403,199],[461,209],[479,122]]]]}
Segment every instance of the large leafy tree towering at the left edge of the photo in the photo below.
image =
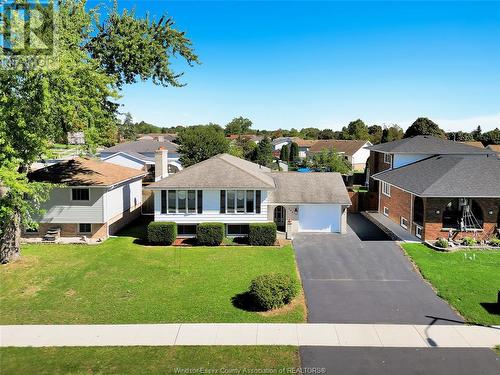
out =
{"type": "MultiPolygon", "coordinates": [[[[152,79],[179,86],[180,74],[172,71],[170,58],[198,62],[189,39],[164,17],[158,22],[136,18],[115,7],[99,22],[99,9],[88,9],[85,1],[33,6],[42,17],[58,20],[58,44],[55,58],[45,64],[33,59],[37,51],[29,48],[16,55],[4,51],[0,57],[2,263],[19,256],[21,222],[36,225],[34,210],[47,198],[46,187],[29,182],[26,172],[50,143],[67,131],[84,131],[91,145],[116,139],[116,99],[123,85],[152,79]]],[[[9,22],[12,38],[24,38],[24,22],[9,22]]],[[[42,31],[38,37],[45,40],[52,29],[42,31]]]]}

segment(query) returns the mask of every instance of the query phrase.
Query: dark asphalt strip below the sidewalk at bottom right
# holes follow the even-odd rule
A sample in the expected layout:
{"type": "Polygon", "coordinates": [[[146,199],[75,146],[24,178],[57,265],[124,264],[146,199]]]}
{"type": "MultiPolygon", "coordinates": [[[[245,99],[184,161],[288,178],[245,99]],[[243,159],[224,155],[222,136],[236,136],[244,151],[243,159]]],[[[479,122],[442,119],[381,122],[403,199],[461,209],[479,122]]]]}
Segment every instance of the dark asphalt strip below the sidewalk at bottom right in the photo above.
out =
{"type": "Polygon", "coordinates": [[[332,375],[500,374],[500,357],[490,349],[305,346],[300,357],[302,367],[325,368],[332,375]]]}

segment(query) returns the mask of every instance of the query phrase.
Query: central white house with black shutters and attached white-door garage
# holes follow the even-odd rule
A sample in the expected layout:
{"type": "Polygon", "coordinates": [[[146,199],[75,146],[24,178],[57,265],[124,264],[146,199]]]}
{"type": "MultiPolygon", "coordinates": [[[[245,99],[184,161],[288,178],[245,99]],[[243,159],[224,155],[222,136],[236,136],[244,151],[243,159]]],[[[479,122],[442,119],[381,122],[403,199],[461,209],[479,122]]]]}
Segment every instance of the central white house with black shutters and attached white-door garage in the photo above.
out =
{"type": "Polygon", "coordinates": [[[271,172],[221,154],[147,187],[155,196],[155,221],[173,221],[181,236],[196,225],[222,222],[228,236],[246,235],[248,224],[274,221],[297,232],[345,232],[351,202],[338,173],[271,172]]]}

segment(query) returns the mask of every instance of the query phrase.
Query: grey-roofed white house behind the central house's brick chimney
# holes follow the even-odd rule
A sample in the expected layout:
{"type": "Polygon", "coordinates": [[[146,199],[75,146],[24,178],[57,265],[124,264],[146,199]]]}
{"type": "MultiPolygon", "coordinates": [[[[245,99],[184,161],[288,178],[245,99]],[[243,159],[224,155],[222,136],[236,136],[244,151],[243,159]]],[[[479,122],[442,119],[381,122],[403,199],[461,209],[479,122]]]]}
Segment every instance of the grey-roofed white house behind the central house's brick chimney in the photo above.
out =
{"type": "Polygon", "coordinates": [[[116,146],[101,151],[101,159],[124,167],[141,169],[148,172],[145,181],[153,181],[155,175],[155,152],[159,149],[163,153],[168,164],[168,172],[176,173],[182,169],[179,162],[177,145],[169,141],[139,140],[120,143],[116,146]]]}

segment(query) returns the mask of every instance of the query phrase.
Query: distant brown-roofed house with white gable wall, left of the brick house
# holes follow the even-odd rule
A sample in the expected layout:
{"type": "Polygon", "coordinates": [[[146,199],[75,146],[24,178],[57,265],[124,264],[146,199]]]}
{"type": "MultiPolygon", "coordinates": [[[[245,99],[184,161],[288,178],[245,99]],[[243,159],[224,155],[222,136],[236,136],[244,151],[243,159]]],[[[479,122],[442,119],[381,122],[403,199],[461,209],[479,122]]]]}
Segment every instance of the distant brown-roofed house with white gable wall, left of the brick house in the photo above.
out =
{"type": "Polygon", "coordinates": [[[371,142],[364,140],[319,140],[315,141],[309,148],[308,154],[314,155],[325,149],[334,149],[336,152],[344,155],[353,170],[362,171],[365,169],[366,162],[370,156],[370,150],[367,149],[370,146],[372,146],[371,142]]]}

